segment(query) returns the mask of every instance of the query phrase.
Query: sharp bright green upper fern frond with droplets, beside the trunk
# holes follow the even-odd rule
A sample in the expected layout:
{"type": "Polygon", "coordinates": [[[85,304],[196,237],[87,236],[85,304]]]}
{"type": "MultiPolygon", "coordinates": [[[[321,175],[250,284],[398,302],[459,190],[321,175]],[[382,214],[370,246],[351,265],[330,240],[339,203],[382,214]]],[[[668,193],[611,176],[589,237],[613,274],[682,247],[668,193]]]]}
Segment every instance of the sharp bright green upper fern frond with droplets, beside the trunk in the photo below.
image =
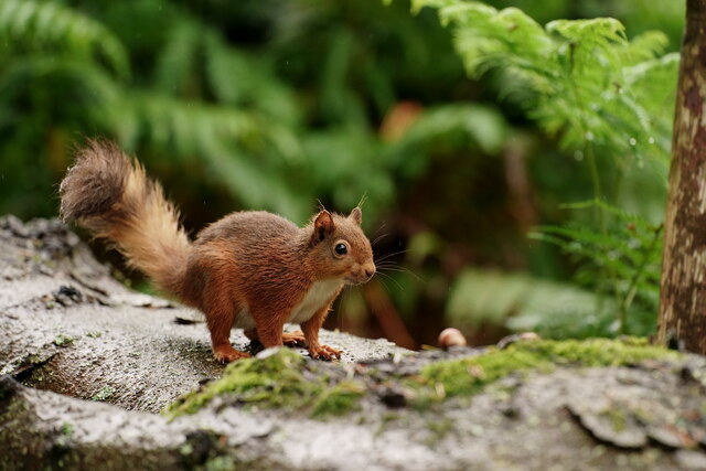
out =
{"type": "Polygon", "coordinates": [[[417,11],[438,8],[468,73],[500,73],[501,93],[560,136],[565,148],[590,159],[593,152],[616,160],[666,158],[671,116],[650,113],[673,108],[678,55],[661,56],[664,34],[629,41],[611,18],[556,20],[542,28],[515,8],[458,0],[413,4],[417,11]]]}

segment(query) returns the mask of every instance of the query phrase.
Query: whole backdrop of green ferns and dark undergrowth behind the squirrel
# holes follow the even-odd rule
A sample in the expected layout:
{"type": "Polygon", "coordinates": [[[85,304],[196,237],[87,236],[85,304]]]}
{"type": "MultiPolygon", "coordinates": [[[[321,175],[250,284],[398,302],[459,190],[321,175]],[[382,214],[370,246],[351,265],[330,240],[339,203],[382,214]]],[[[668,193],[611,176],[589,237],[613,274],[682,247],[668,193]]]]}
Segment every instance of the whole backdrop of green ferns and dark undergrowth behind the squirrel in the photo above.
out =
{"type": "MultiPolygon", "coordinates": [[[[410,15],[407,1],[386,3],[0,1],[0,213],[55,215],[73,146],[106,136],[163,182],[189,229],[238,208],[302,223],[317,200],[347,211],[366,195],[371,234],[415,245],[434,233],[435,247],[405,259],[428,282],[386,274],[413,323],[446,309],[469,328],[586,336],[619,330],[617,311],[649,330],[659,267],[634,278],[630,251],[567,266],[527,245],[503,172],[524,154],[536,221],[560,227],[545,238],[569,254],[589,234],[581,247],[603,253],[649,240],[613,212],[557,202],[662,217],[678,60],[664,52],[683,4],[416,0],[410,15]],[[608,18],[552,21],[606,13],[640,34],[608,18]],[[579,287],[471,264],[555,279],[578,267],[579,287]],[[503,295],[480,296],[485,285],[503,295]]],[[[385,243],[376,253],[403,248],[385,243]]]]}

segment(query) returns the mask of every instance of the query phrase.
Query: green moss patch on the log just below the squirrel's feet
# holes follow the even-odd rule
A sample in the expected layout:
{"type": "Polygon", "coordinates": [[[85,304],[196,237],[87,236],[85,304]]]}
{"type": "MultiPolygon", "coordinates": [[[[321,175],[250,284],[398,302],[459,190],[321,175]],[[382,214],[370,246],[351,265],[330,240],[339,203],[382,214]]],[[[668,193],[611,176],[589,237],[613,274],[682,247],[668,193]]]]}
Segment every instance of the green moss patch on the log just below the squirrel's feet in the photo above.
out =
{"type": "Polygon", "coordinates": [[[289,349],[266,358],[245,358],[226,366],[223,377],[203,389],[182,396],[164,410],[170,418],[193,414],[221,394],[266,408],[311,409],[313,417],[340,415],[352,409],[364,386],[352,381],[329,384],[325,374],[289,349]]]}

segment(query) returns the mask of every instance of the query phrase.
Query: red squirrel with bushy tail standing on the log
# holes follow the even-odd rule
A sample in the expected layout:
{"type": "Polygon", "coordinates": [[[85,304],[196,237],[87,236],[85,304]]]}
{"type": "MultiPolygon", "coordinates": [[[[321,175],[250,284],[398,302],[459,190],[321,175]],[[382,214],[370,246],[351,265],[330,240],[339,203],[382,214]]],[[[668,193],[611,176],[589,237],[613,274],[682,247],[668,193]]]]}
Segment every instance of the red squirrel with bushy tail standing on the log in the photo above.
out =
{"type": "Polygon", "coordinates": [[[64,221],[111,240],[159,289],[205,314],[223,363],[249,356],[231,345],[233,327],[265,347],[306,345],[312,358],[340,358],[319,343],[319,329],[345,285],[375,274],[360,207],[349,216],[321,210],[301,228],[264,211],[236,212],[190,242],[161,185],[111,142],[87,141],[60,194],[64,221]],[[301,331],[282,333],[285,322],[301,331]]]}

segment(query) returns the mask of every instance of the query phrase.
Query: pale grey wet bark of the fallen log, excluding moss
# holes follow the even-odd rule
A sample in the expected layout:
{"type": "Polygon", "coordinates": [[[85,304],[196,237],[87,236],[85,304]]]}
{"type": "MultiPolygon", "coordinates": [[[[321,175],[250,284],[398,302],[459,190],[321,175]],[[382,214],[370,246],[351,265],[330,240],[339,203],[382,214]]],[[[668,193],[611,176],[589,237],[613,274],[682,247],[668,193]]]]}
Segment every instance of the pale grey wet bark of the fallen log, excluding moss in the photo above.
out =
{"type": "Polygon", "coordinates": [[[0,278],[3,470],[706,468],[700,356],[511,374],[418,408],[397,378],[480,351],[324,332],[347,354],[322,373],[382,386],[352,411],[313,419],[224,395],[170,421],[156,411],[223,372],[192,311],[127,290],[56,221],[0,218],[0,278]]]}

